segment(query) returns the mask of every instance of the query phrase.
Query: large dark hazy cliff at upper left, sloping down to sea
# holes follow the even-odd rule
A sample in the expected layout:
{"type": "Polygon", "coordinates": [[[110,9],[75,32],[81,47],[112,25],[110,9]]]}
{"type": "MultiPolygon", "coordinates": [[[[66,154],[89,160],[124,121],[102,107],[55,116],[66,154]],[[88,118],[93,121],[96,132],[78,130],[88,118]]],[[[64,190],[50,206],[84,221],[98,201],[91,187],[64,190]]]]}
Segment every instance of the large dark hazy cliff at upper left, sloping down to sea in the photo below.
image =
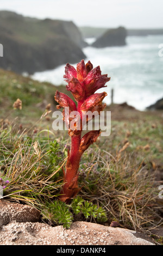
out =
{"type": "Polygon", "coordinates": [[[18,73],[54,69],[85,58],[82,36],[73,22],[38,20],[0,11],[0,67],[18,73]]]}

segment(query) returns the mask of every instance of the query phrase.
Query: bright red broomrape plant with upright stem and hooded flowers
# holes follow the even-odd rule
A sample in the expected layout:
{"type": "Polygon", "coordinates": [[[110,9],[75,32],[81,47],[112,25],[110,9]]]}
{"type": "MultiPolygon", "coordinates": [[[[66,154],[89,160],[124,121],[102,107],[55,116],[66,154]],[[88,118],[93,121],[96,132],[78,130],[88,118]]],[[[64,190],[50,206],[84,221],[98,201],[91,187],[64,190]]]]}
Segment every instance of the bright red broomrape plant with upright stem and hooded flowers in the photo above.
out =
{"type": "Polygon", "coordinates": [[[68,151],[66,172],[63,169],[64,185],[62,186],[61,196],[59,197],[62,202],[68,203],[81,189],[78,187],[80,158],[84,151],[93,142],[96,142],[100,134],[100,130],[94,130],[87,132],[83,137],[81,137],[82,113],[87,111],[91,111],[93,113],[94,111],[97,111],[99,114],[103,111],[106,104],[103,104],[102,101],[107,94],[105,92],[95,92],[99,88],[106,87],[105,83],[110,81],[110,77],[108,77],[108,75],[101,75],[101,69],[99,66],[93,69],[93,65],[90,61],[85,65],[84,60],[82,60],[77,64],[77,69],[67,63],[64,78],[67,82],[66,89],[72,93],[74,99],[77,101],[77,106],[70,97],[64,93],[58,92],[57,90],[54,96],[55,101],[59,103],[57,108],[64,108],[62,115],[67,126],[70,124],[72,118],[65,115],[65,107],[69,107],[69,114],[72,111],[77,111],[80,116],[80,129],[77,129],[79,127],[78,125],[74,125],[73,129],[71,126],[68,126],[68,134],[71,136],[71,149],[70,152],[68,151]]]}

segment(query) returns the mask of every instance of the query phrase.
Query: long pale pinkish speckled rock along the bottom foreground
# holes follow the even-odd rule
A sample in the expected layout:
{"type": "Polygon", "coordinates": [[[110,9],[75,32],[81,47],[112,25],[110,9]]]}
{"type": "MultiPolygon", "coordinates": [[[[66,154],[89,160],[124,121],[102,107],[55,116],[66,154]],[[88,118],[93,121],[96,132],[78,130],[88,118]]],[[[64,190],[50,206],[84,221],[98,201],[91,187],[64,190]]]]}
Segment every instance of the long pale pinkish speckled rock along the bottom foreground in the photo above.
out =
{"type": "Polygon", "coordinates": [[[105,227],[96,223],[74,222],[70,229],[39,222],[3,225],[0,245],[154,245],[136,231],[105,227]]]}

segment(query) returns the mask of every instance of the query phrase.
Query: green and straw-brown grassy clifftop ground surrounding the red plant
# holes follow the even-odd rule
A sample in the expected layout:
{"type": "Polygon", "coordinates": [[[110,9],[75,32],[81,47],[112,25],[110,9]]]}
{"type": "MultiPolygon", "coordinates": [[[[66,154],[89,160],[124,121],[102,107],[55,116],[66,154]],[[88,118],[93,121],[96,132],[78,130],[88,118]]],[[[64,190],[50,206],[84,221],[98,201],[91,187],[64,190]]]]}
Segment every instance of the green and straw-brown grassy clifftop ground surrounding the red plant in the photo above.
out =
{"type": "MultiPolygon", "coordinates": [[[[0,89],[0,174],[10,181],[5,198],[35,205],[51,221],[45,205],[60,192],[61,167],[70,149],[67,131],[52,129],[54,93],[66,89],[2,69],[0,89]],[[17,98],[22,109],[12,107],[17,98]],[[51,113],[45,111],[48,103],[51,113]],[[40,119],[43,113],[47,115],[40,119]]],[[[140,112],[125,104],[106,110],[111,111],[111,134],[100,137],[84,153],[79,195],[103,206],[106,224],[117,221],[121,227],[156,234],[160,242],[163,112],[140,112]]],[[[84,219],[78,216],[78,220],[84,219]]]]}

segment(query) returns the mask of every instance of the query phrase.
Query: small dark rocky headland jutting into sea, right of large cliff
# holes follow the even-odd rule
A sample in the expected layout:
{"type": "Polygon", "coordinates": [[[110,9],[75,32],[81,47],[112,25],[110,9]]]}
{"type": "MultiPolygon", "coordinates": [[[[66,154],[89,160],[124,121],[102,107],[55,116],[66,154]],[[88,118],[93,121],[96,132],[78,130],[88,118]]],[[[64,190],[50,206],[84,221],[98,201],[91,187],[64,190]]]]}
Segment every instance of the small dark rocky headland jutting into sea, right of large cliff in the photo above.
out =
{"type": "Polygon", "coordinates": [[[127,31],[123,27],[116,29],[108,29],[101,37],[99,37],[92,46],[97,48],[108,46],[123,46],[126,45],[127,31]]]}

